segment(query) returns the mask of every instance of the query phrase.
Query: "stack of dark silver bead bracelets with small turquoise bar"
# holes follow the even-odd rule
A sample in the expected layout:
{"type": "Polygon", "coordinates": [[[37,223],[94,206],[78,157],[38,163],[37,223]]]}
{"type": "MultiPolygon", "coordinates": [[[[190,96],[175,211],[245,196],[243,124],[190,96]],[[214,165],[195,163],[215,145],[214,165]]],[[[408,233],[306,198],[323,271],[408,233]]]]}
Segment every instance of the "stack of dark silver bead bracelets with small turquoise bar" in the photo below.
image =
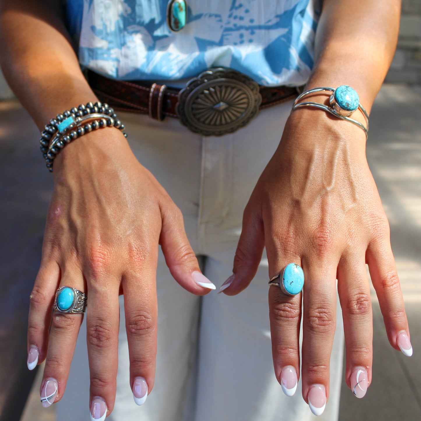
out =
{"type": "MultiPolygon", "coordinates": [[[[41,132],[41,152],[47,163],[48,171],[53,172],[53,160],[56,155],[72,140],[93,130],[103,127],[115,127],[124,130],[124,125],[117,118],[114,109],[101,102],[88,102],[57,114],[41,132]]],[[[127,135],[123,133],[125,137],[127,135]]]]}

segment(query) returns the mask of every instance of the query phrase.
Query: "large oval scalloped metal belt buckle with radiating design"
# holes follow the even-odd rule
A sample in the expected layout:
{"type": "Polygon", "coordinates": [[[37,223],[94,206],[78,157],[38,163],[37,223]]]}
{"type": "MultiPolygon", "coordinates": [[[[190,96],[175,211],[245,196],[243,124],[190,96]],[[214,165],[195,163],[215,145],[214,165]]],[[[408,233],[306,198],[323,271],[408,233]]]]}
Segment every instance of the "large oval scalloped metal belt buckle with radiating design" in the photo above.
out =
{"type": "Polygon", "coordinates": [[[179,92],[176,112],[194,133],[221,136],[245,126],[261,104],[259,85],[232,69],[206,70],[179,92]]]}

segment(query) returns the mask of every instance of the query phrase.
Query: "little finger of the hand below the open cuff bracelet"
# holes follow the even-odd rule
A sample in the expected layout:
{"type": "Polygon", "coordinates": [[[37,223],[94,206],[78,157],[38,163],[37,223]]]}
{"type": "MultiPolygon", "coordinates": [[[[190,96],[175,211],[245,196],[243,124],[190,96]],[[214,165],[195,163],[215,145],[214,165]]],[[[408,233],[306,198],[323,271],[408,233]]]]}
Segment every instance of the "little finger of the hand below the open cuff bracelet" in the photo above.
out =
{"type": "Polygon", "coordinates": [[[387,337],[394,349],[412,355],[408,320],[389,234],[371,242],[366,252],[371,281],[383,314],[387,337]]]}

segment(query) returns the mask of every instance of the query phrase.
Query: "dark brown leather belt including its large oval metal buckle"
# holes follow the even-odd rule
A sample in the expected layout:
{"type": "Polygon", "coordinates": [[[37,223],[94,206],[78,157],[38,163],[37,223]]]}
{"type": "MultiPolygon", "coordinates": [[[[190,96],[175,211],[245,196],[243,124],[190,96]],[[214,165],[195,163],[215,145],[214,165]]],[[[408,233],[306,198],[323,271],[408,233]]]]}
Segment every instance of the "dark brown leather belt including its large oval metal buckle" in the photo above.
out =
{"type": "Polygon", "coordinates": [[[149,114],[157,120],[176,117],[191,131],[205,136],[232,133],[246,125],[258,109],[292,99],[299,92],[295,87],[260,86],[250,77],[225,68],[203,72],[184,89],[110,79],[91,70],[85,75],[98,98],[115,109],[149,114]]]}

